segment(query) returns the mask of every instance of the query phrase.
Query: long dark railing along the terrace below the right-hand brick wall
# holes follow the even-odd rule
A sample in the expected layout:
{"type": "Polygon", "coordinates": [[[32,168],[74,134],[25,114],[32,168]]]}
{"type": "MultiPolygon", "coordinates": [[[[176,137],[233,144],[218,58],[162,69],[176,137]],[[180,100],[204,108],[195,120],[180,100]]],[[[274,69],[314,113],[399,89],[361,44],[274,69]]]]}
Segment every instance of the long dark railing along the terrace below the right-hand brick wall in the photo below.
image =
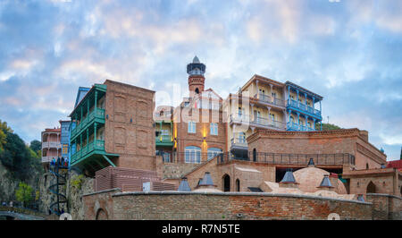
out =
{"type": "Polygon", "coordinates": [[[226,164],[231,160],[242,160],[272,165],[307,166],[313,158],[315,166],[355,165],[355,156],[348,153],[339,154],[275,154],[265,152],[248,152],[245,157],[233,153],[223,153],[218,157],[218,164],[226,164]]]}

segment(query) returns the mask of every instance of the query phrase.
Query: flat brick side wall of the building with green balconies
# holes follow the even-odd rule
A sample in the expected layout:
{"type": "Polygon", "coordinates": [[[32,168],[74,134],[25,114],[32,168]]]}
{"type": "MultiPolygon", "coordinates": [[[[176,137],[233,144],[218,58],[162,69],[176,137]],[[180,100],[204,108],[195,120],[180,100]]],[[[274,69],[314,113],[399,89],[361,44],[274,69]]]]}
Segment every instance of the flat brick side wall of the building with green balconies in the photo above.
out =
{"type": "Polygon", "coordinates": [[[116,166],[155,170],[155,92],[105,81],[105,150],[116,166]]]}

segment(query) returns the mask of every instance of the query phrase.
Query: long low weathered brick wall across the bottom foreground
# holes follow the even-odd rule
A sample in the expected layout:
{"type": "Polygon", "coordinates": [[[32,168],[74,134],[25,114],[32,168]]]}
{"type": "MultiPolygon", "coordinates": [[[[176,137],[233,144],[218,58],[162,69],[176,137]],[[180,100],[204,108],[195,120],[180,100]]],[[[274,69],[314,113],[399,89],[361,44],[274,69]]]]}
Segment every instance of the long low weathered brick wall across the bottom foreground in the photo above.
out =
{"type": "Polygon", "coordinates": [[[108,211],[108,219],[310,220],[327,219],[331,213],[339,214],[340,219],[372,219],[368,202],[290,194],[106,191],[86,195],[83,200],[85,219],[95,219],[100,209],[108,211]]]}

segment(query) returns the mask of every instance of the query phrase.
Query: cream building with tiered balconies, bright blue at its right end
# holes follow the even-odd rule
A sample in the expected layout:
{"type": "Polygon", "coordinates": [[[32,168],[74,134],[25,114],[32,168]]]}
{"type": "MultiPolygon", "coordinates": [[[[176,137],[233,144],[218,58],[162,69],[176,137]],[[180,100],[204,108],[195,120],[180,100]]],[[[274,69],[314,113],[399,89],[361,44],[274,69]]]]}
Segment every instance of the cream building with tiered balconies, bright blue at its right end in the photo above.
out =
{"type": "Polygon", "coordinates": [[[321,123],[322,97],[295,83],[254,75],[223,103],[227,114],[227,143],[239,157],[247,154],[247,137],[255,129],[315,131],[321,123]],[[320,109],[315,107],[319,104],[320,109]]]}

